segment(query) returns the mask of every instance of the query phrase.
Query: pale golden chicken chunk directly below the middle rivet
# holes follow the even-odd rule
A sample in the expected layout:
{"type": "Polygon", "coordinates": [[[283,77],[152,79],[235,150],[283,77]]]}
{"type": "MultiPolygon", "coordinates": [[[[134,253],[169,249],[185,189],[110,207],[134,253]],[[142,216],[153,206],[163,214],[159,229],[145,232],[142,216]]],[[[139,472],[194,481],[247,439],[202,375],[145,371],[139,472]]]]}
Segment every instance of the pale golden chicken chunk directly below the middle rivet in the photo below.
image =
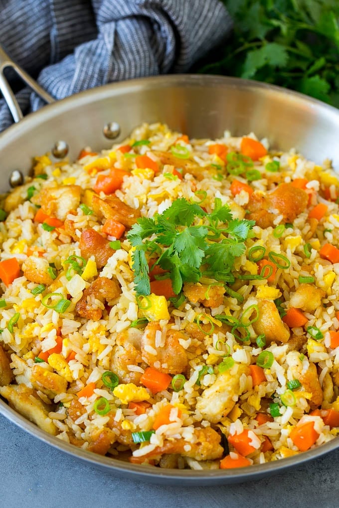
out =
{"type": "Polygon", "coordinates": [[[81,187],[63,185],[43,187],[39,194],[32,198],[32,203],[40,205],[47,215],[65,220],[70,210],[76,210],[80,204],[81,187]]]}

